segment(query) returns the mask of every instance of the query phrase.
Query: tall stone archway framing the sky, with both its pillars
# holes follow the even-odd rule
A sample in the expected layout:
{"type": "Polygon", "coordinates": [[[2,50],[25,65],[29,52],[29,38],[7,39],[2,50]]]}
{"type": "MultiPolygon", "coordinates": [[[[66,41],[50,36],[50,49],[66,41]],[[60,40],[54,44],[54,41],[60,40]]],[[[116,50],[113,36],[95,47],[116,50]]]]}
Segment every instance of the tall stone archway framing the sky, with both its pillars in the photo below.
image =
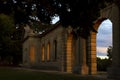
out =
{"type": "MultiPolygon", "coordinates": [[[[108,78],[120,79],[120,8],[116,4],[109,5],[102,9],[101,16],[96,20],[94,28],[97,30],[100,23],[105,19],[110,19],[113,23],[113,50],[112,50],[112,66],[108,69],[108,78]]],[[[90,37],[90,72],[96,73],[96,33],[91,32],[90,37]]]]}

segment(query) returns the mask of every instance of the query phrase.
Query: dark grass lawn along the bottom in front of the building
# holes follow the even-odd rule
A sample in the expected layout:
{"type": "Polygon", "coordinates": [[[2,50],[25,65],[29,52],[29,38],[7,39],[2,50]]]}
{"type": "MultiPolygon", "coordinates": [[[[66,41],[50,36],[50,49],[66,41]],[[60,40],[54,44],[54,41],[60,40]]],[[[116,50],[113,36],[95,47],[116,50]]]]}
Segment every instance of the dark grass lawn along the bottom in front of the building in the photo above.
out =
{"type": "Polygon", "coordinates": [[[56,74],[0,67],[0,80],[103,80],[75,74],[56,74]]]}

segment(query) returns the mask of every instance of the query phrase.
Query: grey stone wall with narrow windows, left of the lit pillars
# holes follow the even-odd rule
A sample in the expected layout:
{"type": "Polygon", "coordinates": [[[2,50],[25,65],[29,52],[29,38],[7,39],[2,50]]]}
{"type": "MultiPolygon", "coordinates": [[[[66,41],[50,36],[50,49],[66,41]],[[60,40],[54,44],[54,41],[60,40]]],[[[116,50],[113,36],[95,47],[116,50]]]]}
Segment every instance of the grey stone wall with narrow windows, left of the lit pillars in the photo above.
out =
{"type": "Polygon", "coordinates": [[[47,32],[42,36],[28,36],[23,43],[23,64],[41,68],[41,69],[55,69],[62,70],[61,64],[63,47],[63,27],[57,27],[55,30],[47,32]],[[49,51],[48,49],[49,44],[49,51]],[[56,54],[55,54],[56,45],[56,54]],[[34,51],[31,52],[31,47],[34,51]],[[42,60],[42,48],[44,47],[44,60],[42,60]],[[48,53],[49,52],[49,60],[48,53]],[[31,60],[32,59],[32,60],[31,60]],[[35,60],[34,60],[35,59],[35,60]]]}

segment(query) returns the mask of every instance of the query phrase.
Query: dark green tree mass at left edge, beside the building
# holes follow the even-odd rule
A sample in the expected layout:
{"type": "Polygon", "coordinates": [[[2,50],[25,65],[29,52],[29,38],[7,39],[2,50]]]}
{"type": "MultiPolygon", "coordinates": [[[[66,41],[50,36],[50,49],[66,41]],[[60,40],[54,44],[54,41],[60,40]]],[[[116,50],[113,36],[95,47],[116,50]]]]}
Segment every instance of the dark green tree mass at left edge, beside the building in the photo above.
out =
{"type": "Polygon", "coordinates": [[[22,61],[21,27],[11,16],[0,14],[0,65],[17,65],[22,61]]]}

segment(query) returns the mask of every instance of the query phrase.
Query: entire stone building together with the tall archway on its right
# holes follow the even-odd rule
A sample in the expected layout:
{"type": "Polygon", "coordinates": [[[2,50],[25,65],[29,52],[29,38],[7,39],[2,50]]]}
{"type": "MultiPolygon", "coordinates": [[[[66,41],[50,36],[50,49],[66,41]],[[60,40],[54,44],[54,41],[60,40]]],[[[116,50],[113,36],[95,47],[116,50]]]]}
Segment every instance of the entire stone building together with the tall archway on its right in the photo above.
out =
{"type": "MultiPolygon", "coordinates": [[[[113,24],[112,66],[108,69],[108,78],[120,79],[120,7],[119,3],[102,9],[101,16],[94,23],[98,30],[105,19],[113,24]]],[[[53,29],[36,35],[28,30],[23,42],[23,65],[28,67],[96,74],[96,34],[91,32],[88,40],[74,38],[71,28],[57,24],[53,29]],[[31,32],[31,33],[29,33],[31,32]]]]}

